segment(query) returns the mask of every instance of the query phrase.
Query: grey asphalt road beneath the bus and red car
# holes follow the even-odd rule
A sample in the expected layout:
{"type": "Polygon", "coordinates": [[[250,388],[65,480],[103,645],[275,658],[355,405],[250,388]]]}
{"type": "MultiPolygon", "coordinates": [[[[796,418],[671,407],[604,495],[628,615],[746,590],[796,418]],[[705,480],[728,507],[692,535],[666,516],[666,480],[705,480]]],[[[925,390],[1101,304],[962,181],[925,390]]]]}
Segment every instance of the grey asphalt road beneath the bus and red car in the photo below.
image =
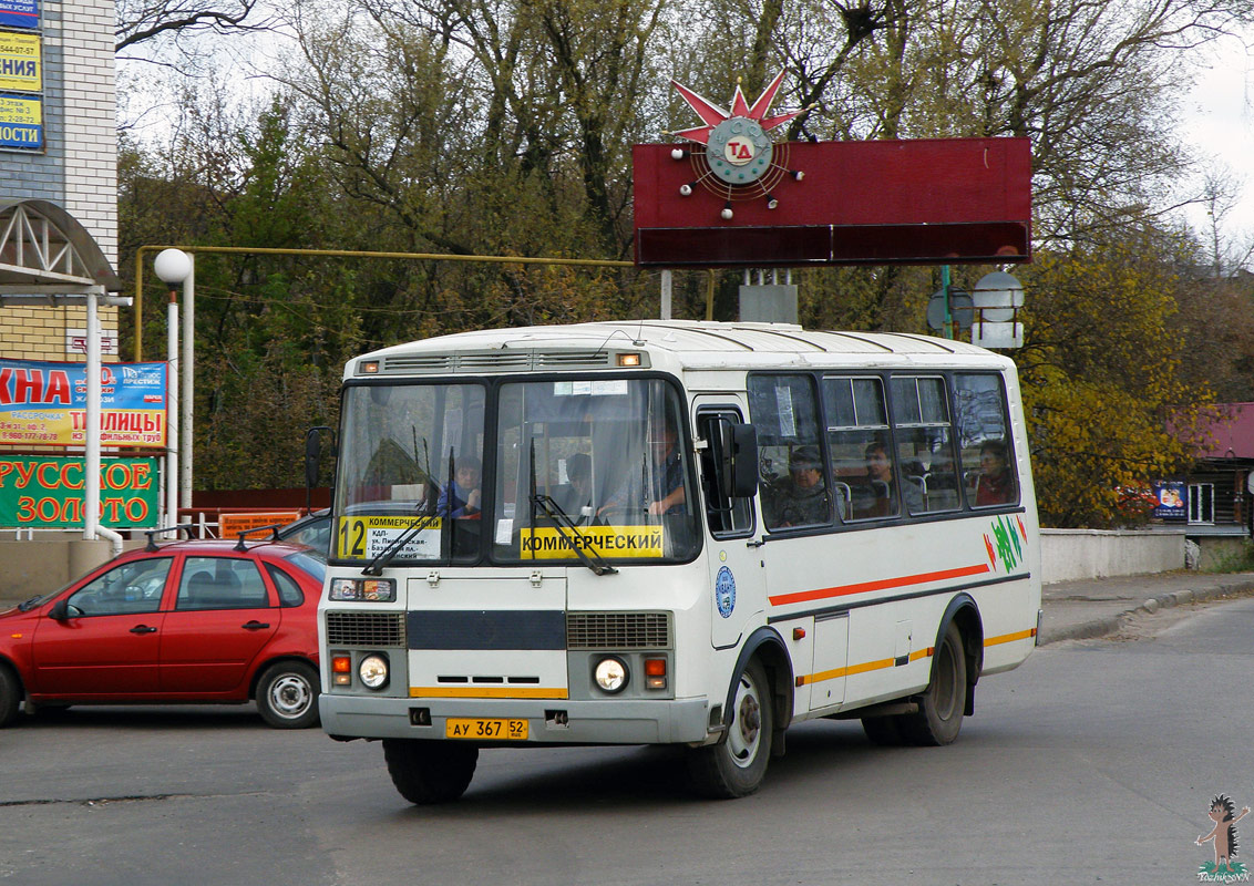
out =
{"type": "Polygon", "coordinates": [[[804,724],[726,802],[688,798],[672,749],[572,748],[485,752],[418,808],[377,744],[75,708],[0,732],[0,882],[1196,882],[1211,798],[1254,806],[1251,664],[1254,599],[1189,608],[988,678],[948,748],[804,724]]]}

